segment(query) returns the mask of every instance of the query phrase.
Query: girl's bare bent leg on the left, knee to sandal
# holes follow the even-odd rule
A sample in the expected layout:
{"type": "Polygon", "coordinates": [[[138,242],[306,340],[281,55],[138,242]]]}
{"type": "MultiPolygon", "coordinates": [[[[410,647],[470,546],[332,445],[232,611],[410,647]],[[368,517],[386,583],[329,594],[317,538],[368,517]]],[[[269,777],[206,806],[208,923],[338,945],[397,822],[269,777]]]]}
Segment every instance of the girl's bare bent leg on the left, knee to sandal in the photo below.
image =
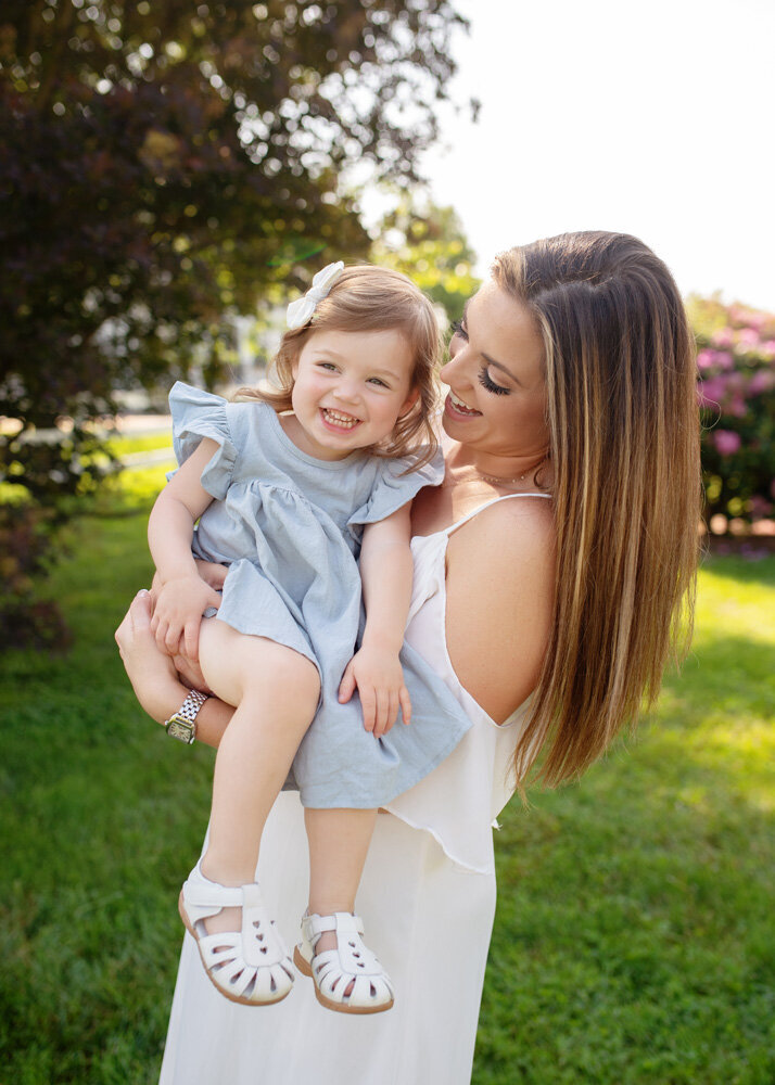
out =
{"type": "MultiPolygon", "coordinates": [[[[200,661],[213,692],[237,705],[215,762],[202,872],[221,885],[244,885],[255,880],[264,825],[315,715],[320,682],[305,656],[215,620],[202,623],[200,661]]],[[[239,909],[206,922],[209,933],[239,924],[239,909]]]]}

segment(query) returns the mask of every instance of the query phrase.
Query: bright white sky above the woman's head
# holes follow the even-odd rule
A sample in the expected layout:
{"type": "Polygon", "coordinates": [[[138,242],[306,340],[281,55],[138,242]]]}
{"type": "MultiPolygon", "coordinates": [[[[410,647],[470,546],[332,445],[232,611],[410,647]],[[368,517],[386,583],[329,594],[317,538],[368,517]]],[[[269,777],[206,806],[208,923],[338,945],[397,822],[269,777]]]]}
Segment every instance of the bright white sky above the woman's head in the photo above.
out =
{"type": "Polygon", "coordinates": [[[775,311],[773,0],[457,0],[448,150],[424,168],[480,273],[564,230],[634,233],[684,294],[775,311]]]}

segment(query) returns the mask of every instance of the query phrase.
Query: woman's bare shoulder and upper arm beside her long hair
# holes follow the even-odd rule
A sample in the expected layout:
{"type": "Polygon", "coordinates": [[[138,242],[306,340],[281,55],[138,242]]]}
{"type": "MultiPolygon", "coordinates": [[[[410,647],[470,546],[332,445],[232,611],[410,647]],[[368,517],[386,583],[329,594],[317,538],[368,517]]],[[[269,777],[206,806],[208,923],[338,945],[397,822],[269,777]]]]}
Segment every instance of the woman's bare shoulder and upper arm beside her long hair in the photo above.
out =
{"type": "Polygon", "coordinates": [[[551,626],[550,502],[500,501],[453,534],[446,639],[460,684],[497,723],[535,688],[551,626]]]}

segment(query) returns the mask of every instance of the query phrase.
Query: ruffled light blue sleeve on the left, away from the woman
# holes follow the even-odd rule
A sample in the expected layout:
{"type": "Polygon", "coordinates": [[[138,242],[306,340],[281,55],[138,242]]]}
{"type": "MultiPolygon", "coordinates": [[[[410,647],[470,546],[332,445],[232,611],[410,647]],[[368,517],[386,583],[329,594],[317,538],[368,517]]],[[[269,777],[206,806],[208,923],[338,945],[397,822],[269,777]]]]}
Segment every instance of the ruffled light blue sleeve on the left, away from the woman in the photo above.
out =
{"type": "Polygon", "coordinates": [[[237,461],[227,414],[227,400],[201,392],[178,381],[169,393],[173,416],[173,447],[178,463],[183,463],[203,437],[218,445],[217,451],[202,472],[202,485],[216,500],[223,500],[231,484],[237,461]]]}

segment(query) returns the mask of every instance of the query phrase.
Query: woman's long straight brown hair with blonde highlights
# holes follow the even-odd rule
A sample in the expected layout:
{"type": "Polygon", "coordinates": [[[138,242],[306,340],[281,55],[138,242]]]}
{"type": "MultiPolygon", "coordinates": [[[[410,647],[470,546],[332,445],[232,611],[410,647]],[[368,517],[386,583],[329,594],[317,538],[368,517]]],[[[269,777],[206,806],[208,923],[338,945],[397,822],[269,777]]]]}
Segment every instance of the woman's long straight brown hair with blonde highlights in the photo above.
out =
{"type": "Polygon", "coordinates": [[[557,537],[554,623],[514,754],[521,781],[582,773],[650,706],[691,636],[701,508],[695,344],[665,265],[636,238],[566,233],[495,260],[546,356],[557,537]]]}

